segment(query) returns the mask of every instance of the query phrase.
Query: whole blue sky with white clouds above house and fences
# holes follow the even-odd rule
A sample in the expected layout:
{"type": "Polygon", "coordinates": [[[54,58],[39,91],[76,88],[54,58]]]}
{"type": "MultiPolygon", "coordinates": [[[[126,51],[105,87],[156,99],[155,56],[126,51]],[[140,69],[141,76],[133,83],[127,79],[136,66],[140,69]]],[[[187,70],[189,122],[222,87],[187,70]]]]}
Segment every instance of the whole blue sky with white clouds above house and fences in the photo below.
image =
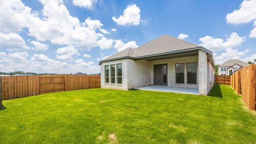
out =
{"type": "Polygon", "coordinates": [[[255,0],[3,0],[0,71],[96,74],[100,59],[164,34],[213,51],[215,63],[252,61],[255,15],[255,0]]]}

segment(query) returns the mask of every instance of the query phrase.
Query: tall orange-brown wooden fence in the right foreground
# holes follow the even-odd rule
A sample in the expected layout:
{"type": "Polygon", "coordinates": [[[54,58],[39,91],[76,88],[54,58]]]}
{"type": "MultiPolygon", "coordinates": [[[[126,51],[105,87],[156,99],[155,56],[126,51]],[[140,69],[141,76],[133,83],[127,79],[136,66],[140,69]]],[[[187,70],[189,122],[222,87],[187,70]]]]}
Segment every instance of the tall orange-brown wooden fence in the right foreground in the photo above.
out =
{"type": "Polygon", "coordinates": [[[231,84],[237,94],[242,94],[243,101],[249,109],[255,110],[256,102],[256,65],[237,70],[231,76],[231,84]]]}

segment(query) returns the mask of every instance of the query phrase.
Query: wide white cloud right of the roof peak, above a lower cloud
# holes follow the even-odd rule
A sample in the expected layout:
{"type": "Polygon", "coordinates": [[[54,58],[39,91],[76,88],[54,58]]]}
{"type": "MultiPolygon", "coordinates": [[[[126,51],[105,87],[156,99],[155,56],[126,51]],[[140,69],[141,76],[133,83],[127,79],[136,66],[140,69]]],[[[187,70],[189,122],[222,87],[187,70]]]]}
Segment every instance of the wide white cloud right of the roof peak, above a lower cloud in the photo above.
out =
{"type": "Polygon", "coordinates": [[[222,38],[213,38],[211,36],[201,37],[199,41],[201,42],[199,45],[215,52],[239,46],[245,41],[245,37],[240,37],[237,33],[231,33],[226,42],[222,38]]]}

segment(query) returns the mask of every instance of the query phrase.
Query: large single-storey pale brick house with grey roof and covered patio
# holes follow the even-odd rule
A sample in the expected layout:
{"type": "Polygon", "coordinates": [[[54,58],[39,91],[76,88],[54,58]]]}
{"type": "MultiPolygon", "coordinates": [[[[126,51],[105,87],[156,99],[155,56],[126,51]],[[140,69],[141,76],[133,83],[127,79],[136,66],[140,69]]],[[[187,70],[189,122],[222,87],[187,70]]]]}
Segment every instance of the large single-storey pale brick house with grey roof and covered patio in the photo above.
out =
{"type": "Polygon", "coordinates": [[[148,85],[185,87],[206,95],[214,84],[212,52],[168,35],[99,62],[101,87],[131,90],[148,85]]]}

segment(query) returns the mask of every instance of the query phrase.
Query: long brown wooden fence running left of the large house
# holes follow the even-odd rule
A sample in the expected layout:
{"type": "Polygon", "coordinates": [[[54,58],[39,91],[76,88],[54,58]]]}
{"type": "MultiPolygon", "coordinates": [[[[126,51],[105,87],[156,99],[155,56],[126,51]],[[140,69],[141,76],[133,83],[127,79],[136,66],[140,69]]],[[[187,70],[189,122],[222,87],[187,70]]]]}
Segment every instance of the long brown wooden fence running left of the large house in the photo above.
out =
{"type": "MultiPolygon", "coordinates": [[[[51,92],[92,89],[100,87],[100,76],[87,75],[40,75],[0,76],[3,100],[29,97],[51,92]]],[[[1,85],[0,84],[0,85],[1,85]]]]}

